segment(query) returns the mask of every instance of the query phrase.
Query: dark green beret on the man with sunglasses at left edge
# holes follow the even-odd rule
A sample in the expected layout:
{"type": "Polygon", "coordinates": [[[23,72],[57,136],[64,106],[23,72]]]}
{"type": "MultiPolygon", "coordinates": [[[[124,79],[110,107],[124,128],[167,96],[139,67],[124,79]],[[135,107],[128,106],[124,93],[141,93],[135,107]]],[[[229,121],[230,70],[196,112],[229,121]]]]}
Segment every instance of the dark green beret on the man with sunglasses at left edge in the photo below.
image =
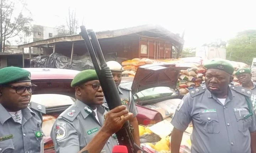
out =
{"type": "Polygon", "coordinates": [[[0,84],[31,82],[30,71],[14,66],[0,69],[0,78],[0,84]]]}

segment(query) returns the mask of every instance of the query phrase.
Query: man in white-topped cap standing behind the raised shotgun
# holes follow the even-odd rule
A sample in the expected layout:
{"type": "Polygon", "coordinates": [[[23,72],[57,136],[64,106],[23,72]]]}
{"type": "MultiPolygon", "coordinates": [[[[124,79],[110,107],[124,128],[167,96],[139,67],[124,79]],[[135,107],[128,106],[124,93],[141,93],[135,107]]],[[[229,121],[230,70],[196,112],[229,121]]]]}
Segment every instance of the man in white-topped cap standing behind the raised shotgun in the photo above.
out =
{"type": "MultiPolygon", "coordinates": [[[[120,83],[122,81],[122,72],[123,72],[123,67],[121,64],[119,64],[117,61],[108,61],[107,66],[110,68],[114,81],[116,83],[119,96],[121,98],[121,101],[123,105],[127,106],[127,109],[129,112],[133,113],[133,118],[129,120],[129,123],[132,125],[134,128],[133,132],[133,139],[135,143],[140,146],[140,140],[139,140],[139,125],[138,125],[138,120],[136,118],[138,114],[137,107],[135,106],[134,98],[132,95],[132,92],[129,89],[126,89],[122,86],[120,86],[120,83]]],[[[104,102],[106,100],[104,99],[104,102]]],[[[140,153],[140,151],[138,151],[140,153]]]]}

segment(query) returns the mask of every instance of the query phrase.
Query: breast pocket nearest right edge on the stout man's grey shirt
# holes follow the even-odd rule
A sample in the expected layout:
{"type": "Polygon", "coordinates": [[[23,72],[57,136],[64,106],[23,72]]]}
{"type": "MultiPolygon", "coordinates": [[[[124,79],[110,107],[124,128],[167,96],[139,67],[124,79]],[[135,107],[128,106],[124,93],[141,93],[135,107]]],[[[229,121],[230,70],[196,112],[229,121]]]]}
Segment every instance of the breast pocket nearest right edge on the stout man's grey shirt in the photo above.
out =
{"type": "Polygon", "coordinates": [[[251,125],[251,116],[247,119],[244,119],[245,116],[249,114],[247,110],[234,111],[236,116],[236,121],[238,124],[238,130],[240,132],[246,132],[251,125]]]}

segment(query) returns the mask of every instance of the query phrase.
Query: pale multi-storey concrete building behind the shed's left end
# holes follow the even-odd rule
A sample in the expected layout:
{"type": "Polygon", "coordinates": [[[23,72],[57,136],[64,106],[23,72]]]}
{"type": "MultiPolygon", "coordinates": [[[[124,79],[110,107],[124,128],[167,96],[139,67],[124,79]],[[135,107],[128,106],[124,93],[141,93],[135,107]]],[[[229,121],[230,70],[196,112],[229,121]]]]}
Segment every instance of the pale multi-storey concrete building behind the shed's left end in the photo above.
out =
{"type": "MultiPolygon", "coordinates": [[[[32,35],[26,38],[26,42],[31,43],[38,40],[50,39],[56,36],[69,34],[69,30],[33,25],[32,35]]],[[[41,50],[42,52],[42,50],[41,50]]],[[[24,48],[24,53],[30,53],[29,48],[24,48]]],[[[39,47],[31,47],[31,53],[39,54],[39,47]]]]}

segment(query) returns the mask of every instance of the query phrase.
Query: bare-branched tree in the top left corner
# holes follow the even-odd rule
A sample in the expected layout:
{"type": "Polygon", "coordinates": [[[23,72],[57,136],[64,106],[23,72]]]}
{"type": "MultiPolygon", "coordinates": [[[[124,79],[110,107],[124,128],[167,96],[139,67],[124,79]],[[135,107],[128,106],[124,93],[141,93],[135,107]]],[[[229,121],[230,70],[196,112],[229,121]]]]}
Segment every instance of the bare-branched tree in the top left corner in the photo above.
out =
{"type": "Polygon", "coordinates": [[[19,34],[30,34],[32,31],[30,11],[24,0],[0,0],[0,52],[5,51],[8,39],[19,34]],[[22,9],[17,12],[17,6],[22,9]]]}

